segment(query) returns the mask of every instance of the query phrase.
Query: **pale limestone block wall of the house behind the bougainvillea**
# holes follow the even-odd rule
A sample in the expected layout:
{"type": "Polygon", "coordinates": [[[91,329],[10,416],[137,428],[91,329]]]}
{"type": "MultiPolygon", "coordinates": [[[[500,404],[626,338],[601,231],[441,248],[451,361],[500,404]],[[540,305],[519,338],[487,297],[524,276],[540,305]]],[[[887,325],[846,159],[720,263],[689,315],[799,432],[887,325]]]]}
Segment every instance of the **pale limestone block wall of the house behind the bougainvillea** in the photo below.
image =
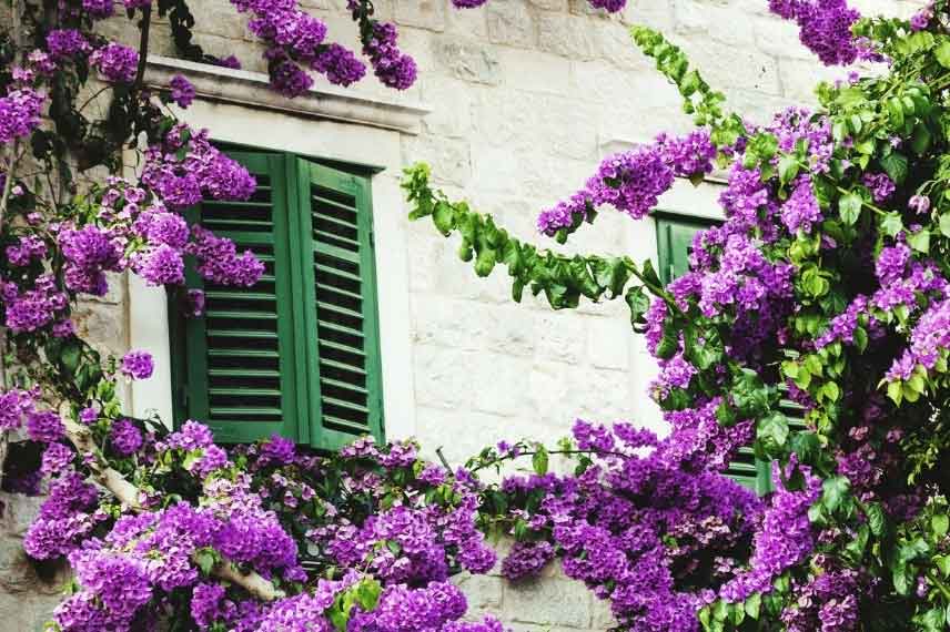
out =
{"type": "MultiPolygon", "coordinates": [[[[344,0],[303,0],[334,40],[355,43],[344,0]]],[[[917,1],[866,0],[866,10],[909,13],[917,1]]],[[[383,167],[374,176],[385,418],[390,438],[415,436],[444,446],[453,463],[499,439],[554,440],[576,417],[631,419],[660,428],[645,388],[655,368],[630,333],[621,304],[553,313],[538,300],[508,299],[497,269],[478,279],[427,222],[411,224],[398,190],[403,166],[433,165],[436,183],[491,212],[521,237],[535,236],[537,212],[580,186],[606,154],[685,131],[673,86],[630,43],[626,24],[645,23],[683,45],[707,80],[751,120],[812,101],[818,79],[841,70],[816,63],[797,30],[771,17],[767,0],[631,0],[619,16],[586,0],[489,0],[475,10],[449,0],[380,0],[381,18],[400,27],[420,80],[395,94],[371,78],[340,90],[317,82],[287,101],[269,92],[260,49],[228,0],[194,0],[196,40],[236,54],[244,71],[179,62],[166,29],[155,29],[149,80],[183,72],[201,100],[182,114],[220,141],[383,167]]],[[[128,21],[108,27],[134,42],[128,21]]],[[[661,207],[717,216],[717,188],[678,183],[661,207]]],[[[567,247],[656,256],[651,220],[605,213],[567,247]]],[[[121,354],[150,350],[152,379],[131,386],[130,411],[170,418],[168,324],[161,290],[113,279],[110,295],[83,305],[80,333],[121,354]]],[[[58,577],[26,562],[20,539],[36,502],[9,497],[0,521],[0,630],[37,630],[58,601],[58,577]]],[[[609,616],[580,584],[556,569],[526,585],[496,574],[463,578],[472,612],[499,614],[517,631],[604,630],[609,616]]]]}

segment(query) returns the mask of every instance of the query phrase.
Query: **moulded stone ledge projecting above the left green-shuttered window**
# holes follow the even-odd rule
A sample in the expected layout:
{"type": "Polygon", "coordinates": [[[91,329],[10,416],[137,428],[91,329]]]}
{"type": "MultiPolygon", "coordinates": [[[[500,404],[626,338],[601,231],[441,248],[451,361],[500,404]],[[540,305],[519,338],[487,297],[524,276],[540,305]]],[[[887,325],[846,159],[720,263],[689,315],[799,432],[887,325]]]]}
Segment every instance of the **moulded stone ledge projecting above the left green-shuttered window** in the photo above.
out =
{"type": "Polygon", "coordinates": [[[431,110],[420,103],[383,99],[354,89],[321,85],[296,99],[270,89],[267,75],[180,59],[149,55],[145,81],[166,88],[175,74],[184,74],[199,99],[245,105],[297,116],[329,119],[418,134],[420,120],[431,110]]]}

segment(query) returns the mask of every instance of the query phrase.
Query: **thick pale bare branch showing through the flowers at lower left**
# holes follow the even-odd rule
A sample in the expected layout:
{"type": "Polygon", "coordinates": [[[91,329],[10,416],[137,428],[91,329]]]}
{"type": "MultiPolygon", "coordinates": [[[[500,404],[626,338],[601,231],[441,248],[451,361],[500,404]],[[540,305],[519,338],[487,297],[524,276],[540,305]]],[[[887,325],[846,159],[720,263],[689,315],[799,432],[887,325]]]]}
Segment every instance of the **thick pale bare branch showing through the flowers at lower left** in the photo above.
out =
{"type": "MultiPolygon", "coordinates": [[[[89,428],[80,426],[71,416],[63,415],[67,412],[68,405],[61,407],[60,412],[65,425],[65,432],[72,445],[80,453],[95,453],[95,444],[92,440],[92,435],[89,428]]],[[[131,508],[134,511],[148,511],[139,502],[139,488],[125,480],[121,473],[114,469],[104,466],[99,459],[90,459],[89,466],[95,479],[109,491],[111,491],[120,502],[131,508]]],[[[284,593],[274,588],[274,585],[259,575],[255,572],[243,573],[230,560],[223,560],[215,565],[211,571],[219,579],[230,581],[233,584],[240,585],[250,594],[256,597],[261,601],[274,601],[284,597],[284,593]]]]}

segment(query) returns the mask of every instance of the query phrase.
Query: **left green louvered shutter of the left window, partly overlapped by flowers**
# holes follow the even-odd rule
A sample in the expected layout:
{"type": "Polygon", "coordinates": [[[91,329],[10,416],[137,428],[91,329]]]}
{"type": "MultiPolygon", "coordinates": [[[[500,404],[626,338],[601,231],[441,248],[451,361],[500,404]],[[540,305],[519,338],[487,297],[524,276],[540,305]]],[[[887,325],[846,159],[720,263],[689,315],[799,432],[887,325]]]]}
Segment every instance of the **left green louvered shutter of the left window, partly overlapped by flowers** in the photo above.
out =
{"type": "Polygon", "coordinates": [[[179,419],[209,424],[223,442],[246,442],[279,434],[296,439],[299,401],[295,373],[289,248],[285,156],[229,153],[257,180],[246,202],[204,202],[192,220],[229,237],[239,252],[252,251],[265,265],[252,287],[203,283],[190,269],[190,287],[203,287],[203,318],[184,320],[179,361],[179,419]]]}

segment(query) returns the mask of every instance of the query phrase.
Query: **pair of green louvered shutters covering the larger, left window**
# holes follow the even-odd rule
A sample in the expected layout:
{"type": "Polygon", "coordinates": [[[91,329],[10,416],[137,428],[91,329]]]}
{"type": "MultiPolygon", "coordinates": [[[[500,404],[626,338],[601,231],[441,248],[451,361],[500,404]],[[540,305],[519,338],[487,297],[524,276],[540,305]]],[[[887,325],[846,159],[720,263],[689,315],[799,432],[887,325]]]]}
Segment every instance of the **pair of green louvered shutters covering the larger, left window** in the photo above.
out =
{"type": "Polygon", "coordinates": [[[245,288],[188,271],[206,307],[202,318],[170,310],[175,422],[204,420],[223,442],[382,439],[368,179],[294,155],[229,155],[256,177],[254,196],[202,203],[189,220],[251,249],[265,272],[245,288]]]}

